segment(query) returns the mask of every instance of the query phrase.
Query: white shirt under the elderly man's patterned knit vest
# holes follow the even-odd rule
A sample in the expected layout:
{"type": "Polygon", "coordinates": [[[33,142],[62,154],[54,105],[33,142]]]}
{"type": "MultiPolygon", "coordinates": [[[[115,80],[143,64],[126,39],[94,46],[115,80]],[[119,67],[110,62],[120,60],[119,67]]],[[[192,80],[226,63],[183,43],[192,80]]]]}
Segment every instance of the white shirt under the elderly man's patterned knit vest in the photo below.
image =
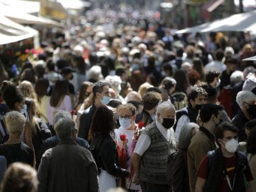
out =
{"type": "MultiPolygon", "coordinates": [[[[169,129],[166,129],[163,127],[163,125],[161,125],[160,122],[158,122],[158,120],[156,120],[155,122],[156,122],[156,127],[158,128],[158,130],[160,130],[164,138],[166,138],[166,140],[169,143],[173,143],[173,145],[175,146],[176,141],[174,137],[173,128],[171,127],[169,129]]],[[[144,152],[147,151],[150,144],[151,144],[150,136],[148,136],[147,134],[142,134],[140,135],[139,140],[137,141],[134,152],[139,154],[139,156],[142,156],[144,152]]]]}

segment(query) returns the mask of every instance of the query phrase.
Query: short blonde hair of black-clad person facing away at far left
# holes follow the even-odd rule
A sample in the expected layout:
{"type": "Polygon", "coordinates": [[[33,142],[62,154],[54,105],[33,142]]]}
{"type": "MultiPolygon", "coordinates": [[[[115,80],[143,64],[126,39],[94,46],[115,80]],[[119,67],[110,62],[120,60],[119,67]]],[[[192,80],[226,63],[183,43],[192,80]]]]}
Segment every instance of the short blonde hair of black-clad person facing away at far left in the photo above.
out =
{"type": "Polygon", "coordinates": [[[6,115],[6,128],[10,133],[22,133],[22,130],[24,128],[23,125],[25,125],[26,118],[24,115],[20,114],[20,112],[17,111],[11,111],[8,112],[6,115]]]}

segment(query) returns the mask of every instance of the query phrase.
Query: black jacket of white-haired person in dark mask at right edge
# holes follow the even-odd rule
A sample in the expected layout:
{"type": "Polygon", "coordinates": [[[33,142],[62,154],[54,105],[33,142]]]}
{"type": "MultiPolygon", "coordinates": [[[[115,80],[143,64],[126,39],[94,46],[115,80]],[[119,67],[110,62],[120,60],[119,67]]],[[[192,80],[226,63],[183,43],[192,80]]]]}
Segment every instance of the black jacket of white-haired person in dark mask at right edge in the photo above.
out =
{"type": "Polygon", "coordinates": [[[238,114],[234,116],[234,118],[232,119],[233,125],[235,125],[239,129],[239,132],[238,132],[239,142],[247,140],[247,135],[244,130],[244,125],[247,122],[249,122],[249,119],[247,119],[242,113],[241,109],[239,109],[238,114]]]}

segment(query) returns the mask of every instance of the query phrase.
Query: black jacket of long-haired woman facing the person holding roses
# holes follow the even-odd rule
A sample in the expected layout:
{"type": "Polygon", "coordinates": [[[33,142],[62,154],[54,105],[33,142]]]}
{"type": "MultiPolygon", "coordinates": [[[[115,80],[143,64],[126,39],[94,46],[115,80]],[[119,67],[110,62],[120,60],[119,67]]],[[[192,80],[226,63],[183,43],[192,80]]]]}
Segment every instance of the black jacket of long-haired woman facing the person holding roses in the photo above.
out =
{"type": "Polygon", "coordinates": [[[98,169],[104,169],[116,177],[127,177],[129,172],[119,167],[117,147],[111,136],[103,137],[96,133],[91,141],[93,157],[98,169]]]}

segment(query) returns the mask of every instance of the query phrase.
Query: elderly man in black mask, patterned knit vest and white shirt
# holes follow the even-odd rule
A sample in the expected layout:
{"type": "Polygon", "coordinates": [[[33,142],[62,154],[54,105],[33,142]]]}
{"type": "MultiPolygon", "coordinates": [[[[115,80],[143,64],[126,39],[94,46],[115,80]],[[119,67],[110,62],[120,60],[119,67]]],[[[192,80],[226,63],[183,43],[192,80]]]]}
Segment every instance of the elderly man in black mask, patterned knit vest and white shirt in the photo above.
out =
{"type": "Polygon", "coordinates": [[[175,108],[171,102],[158,105],[156,120],[141,133],[132,156],[135,183],[142,191],[169,191],[166,178],[167,159],[175,152],[175,108]]]}

